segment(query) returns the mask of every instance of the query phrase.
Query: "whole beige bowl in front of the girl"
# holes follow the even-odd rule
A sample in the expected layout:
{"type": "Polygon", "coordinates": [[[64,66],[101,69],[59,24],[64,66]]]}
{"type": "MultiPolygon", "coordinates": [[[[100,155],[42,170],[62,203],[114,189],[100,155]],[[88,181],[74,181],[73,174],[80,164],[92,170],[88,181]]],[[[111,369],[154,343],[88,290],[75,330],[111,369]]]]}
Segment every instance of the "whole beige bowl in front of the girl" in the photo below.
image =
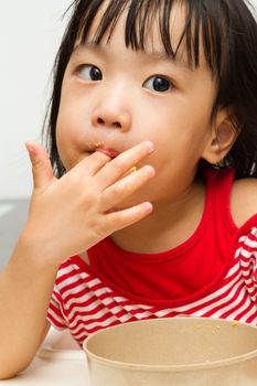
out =
{"type": "Polygon", "coordinates": [[[204,318],[98,331],[83,344],[92,386],[256,386],[257,329],[204,318]]]}

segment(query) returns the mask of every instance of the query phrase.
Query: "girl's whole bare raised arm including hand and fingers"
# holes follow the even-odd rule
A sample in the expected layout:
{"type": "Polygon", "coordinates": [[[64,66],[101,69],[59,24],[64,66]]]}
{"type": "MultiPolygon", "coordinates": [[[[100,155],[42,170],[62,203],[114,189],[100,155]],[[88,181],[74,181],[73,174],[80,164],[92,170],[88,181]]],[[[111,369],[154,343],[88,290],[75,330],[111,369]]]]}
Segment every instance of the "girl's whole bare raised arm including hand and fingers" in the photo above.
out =
{"type": "Polygon", "coordinates": [[[124,176],[152,151],[149,143],[138,144],[114,160],[95,152],[60,180],[53,176],[43,148],[30,143],[28,150],[34,180],[29,217],[0,274],[0,379],[23,369],[45,336],[60,264],[152,210],[142,203],[113,211],[154,175],[151,167],[142,167],[124,176]]]}

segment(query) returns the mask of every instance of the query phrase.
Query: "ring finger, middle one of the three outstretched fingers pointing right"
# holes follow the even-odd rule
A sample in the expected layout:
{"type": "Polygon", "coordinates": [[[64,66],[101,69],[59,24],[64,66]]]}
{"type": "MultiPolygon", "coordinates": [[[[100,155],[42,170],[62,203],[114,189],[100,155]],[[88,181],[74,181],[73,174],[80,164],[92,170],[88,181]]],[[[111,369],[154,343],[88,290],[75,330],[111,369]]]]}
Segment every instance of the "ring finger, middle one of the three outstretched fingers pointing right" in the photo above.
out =
{"type": "Polygon", "coordinates": [[[111,210],[115,205],[124,201],[126,197],[136,192],[154,176],[154,169],[150,165],[131,172],[129,175],[119,180],[114,185],[107,187],[101,193],[100,207],[103,212],[111,210]]]}

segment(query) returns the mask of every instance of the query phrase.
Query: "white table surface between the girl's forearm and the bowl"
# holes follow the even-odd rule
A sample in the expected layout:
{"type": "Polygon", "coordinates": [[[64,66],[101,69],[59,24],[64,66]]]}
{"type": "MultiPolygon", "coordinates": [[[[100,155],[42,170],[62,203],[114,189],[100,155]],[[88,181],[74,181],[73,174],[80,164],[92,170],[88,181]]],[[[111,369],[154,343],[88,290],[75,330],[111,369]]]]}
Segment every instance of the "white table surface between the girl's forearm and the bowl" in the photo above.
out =
{"type": "Polygon", "coordinates": [[[31,365],[17,377],[0,380],[0,384],[2,386],[90,386],[86,356],[69,341],[67,335],[51,331],[31,365]]]}

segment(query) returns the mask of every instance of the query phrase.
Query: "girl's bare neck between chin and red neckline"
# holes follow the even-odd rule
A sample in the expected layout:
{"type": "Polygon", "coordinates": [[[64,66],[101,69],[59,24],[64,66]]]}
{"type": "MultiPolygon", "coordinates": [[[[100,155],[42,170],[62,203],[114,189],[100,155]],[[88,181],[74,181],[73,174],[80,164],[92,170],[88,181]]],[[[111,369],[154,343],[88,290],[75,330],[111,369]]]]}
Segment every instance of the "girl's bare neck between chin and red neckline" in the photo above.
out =
{"type": "Polygon", "coordinates": [[[205,187],[194,183],[178,200],[153,204],[153,212],[142,221],[116,232],[111,239],[120,248],[153,254],[185,242],[199,226],[205,203],[205,187]]]}

